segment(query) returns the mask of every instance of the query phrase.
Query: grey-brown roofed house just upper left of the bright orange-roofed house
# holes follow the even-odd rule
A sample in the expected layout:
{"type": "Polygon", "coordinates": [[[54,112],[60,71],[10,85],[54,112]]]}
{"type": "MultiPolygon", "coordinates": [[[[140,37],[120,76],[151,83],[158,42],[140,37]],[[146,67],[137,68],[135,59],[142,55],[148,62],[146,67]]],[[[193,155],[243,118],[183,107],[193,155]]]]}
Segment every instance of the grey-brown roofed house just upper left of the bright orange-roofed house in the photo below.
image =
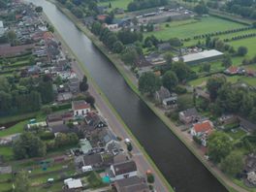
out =
{"type": "Polygon", "coordinates": [[[195,108],[187,109],[183,112],[178,112],[179,120],[185,124],[198,122],[201,118],[195,108]]]}

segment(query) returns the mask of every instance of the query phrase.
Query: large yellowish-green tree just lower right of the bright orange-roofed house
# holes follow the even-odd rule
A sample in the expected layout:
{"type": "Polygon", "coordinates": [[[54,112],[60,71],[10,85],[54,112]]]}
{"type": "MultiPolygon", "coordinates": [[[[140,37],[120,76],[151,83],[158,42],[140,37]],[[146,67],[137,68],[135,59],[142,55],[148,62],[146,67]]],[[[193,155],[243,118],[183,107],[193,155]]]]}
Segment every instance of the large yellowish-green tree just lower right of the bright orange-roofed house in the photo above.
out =
{"type": "Polygon", "coordinates": [[[208,137],[208,156],[214,163],[219,163],[232,150],[229,136],[223,132],[214,132],[208,137]]]}

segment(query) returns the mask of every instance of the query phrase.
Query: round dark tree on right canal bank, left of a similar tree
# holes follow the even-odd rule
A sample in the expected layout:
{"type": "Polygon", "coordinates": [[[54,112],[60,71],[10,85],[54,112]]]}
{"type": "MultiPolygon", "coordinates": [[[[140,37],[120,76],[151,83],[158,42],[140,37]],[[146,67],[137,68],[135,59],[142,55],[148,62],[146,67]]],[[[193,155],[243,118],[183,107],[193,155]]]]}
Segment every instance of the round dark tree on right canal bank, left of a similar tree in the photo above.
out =
{"type": "Polygon", "coordinates": [[[159,90],[161,80],[156,77],[152,72],[145,72],[139,79],[139,90],[142,93],[153,94],[159,90]]]}

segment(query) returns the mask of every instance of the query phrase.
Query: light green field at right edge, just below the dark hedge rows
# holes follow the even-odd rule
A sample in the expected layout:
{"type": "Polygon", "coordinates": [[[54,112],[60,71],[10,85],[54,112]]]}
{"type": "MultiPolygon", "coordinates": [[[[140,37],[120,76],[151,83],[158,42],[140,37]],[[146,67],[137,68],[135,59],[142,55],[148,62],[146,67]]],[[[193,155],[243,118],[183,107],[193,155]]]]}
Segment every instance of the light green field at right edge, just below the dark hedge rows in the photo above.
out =
{"type": "Polygon", "coordinates": [[[234,48],[239,48],[240,46],[248,48],[247,56],[249,57],[253,57],[256,54],[256,37],[233,41],[229,44],[234,48]]]}

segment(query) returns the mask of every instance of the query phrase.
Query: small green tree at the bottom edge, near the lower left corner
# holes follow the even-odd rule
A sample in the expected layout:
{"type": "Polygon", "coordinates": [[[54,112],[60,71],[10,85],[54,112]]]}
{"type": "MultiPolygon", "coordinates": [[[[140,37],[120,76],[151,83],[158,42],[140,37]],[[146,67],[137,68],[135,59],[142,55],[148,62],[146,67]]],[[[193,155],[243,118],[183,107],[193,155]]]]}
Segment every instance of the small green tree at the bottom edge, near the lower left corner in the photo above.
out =
{"type": "Polygon", "coordinates": [[[28,192],[30,189],[27,171],[20,171],[15,177],[15,192],[28,192]]]}

